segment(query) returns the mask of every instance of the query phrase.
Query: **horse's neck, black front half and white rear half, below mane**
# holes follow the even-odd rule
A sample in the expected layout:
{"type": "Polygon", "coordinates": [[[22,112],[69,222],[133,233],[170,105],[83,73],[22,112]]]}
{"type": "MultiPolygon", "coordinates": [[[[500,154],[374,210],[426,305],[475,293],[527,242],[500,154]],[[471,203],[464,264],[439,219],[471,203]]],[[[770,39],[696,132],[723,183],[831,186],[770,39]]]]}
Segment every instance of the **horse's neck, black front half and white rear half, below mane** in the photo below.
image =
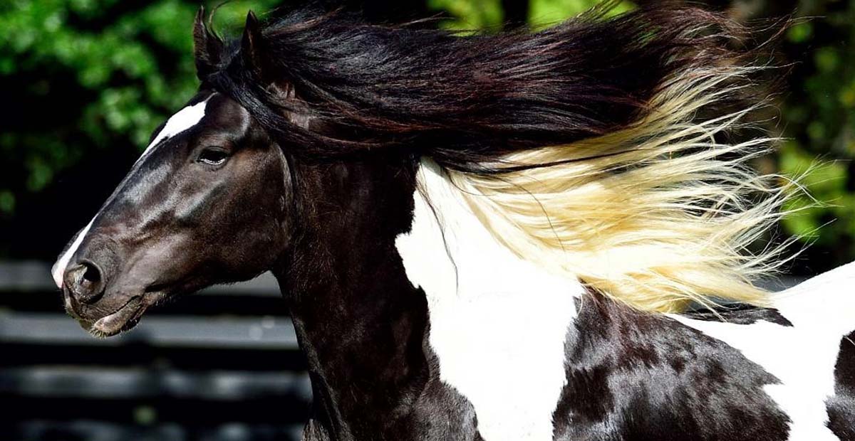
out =
{"type": "Polygon", "coordinates": [[[499,244],[430,160],[298,168],[304,228],[276,274],[331,438],[466,432],[476,414],[484,438],[551,438],[579,282],[499,244]],[[526,379],[516,400],[507,378],[526,379]]]}

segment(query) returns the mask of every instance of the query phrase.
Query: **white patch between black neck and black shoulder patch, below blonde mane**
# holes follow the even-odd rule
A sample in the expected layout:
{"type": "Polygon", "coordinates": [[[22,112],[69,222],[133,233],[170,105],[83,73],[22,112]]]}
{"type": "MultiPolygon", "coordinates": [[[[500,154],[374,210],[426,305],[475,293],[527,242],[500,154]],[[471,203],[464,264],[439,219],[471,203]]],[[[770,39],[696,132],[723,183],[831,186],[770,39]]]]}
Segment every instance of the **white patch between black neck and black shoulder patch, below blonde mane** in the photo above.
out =
{"type": "Polygon", "coordinates": [[[487,441],[552,439],[581,284],[499,244],[433,162],[418,183],[428,199],[416,191],[412,229],[396,246],[428,298],[440,380],[469,399],[487,441]]]}

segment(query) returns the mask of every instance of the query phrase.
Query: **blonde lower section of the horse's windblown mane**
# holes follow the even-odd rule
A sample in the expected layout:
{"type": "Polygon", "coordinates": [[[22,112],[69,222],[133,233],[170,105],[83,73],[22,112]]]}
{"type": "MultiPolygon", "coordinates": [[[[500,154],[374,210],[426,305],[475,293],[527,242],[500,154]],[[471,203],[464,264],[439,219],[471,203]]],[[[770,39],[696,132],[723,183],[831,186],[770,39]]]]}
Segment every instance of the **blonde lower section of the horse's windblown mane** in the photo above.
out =
{"type": "Polygon", "coordinates": [[[637,310],[769,305],[769,293],[755,282],[787,262],[781,252],[794,239],[749,249],[801,187],[750,165],[775,138],[725,141],[761,104],[698,117],[738,91],[732,79],[757,69],[687,70],[663,83],[635,124],[503,161],[545,166],[498,175],[445,172],[505,247],[637,310]]]}

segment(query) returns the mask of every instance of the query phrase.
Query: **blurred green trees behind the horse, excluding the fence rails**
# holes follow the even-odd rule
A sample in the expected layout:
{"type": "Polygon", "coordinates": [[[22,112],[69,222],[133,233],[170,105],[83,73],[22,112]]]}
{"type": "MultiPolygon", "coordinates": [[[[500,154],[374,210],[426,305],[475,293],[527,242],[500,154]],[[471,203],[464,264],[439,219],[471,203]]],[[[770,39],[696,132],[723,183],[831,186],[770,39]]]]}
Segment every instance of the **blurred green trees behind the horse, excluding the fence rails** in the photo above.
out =
{"type": "MultiPolygon", "coordinates": [[[[362,9],[373,21],[445,17],[440,26],[498,31],[548,26],[597,0],[325,0],[362,9]]],[[[635,3],[651,3],[637,0],[635,3]]],[[[215,18],[236,32],[250,8],[282,0],[236,0],[215,18]]],[[[197,87],[192,17],[198,1],[4,0],[0,2],[0,256],[50,258],[83,226],[144,148],[150,132],[197,87]],[[85,160],[84,160],[85,158],[85,160]],[[75,189],[70,192],[68,189],[75,189]],[[77,197],[68,198],[68,194],[77,197]],[[60,221],[57,221],[60,219],[60,221]]],[[[206,1],[209,10],[221,0],[206,1]]],[[[793,26],[781,44],[797,61],[777,130],[788,141],[777,167],[805,178],[823,206],[783,228],[817,242],[821,270],[855,257],[855,2],[706,0],[740,20],[819,16],[793,26]],[[834,221],[834,222],[832,222],[834,221]],[[826,225],[828,223],[828,225],[826,225]],[[817,235],[817,230],[821,234],[817,235]]],[[[622,3],[616,12],[631,8],[622,3]]],[[[773,165],[775,166],[775,165],[773,165]]],[[[791,207],[805,206],[797,200],[791,207]]]]}

